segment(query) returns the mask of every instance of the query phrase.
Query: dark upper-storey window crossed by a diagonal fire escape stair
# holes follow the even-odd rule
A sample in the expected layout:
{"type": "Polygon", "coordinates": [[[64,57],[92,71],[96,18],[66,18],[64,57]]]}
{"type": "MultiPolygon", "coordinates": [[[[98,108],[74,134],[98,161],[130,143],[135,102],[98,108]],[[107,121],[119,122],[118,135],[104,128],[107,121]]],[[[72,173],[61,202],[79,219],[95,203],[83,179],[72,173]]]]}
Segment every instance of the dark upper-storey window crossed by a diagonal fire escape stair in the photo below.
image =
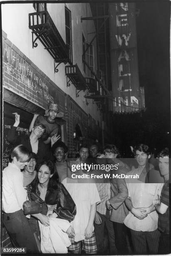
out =
{"type": "MultiPolygon", "coordinates": [[[[83,59],[87,62],[89,67],[94,70],[94,63],[93,63],[93,45],[85,42],[85,38],[82,35],[82,50],[83,50],[83,59]],[[88,48],[88,49],[87,49],[88,48]],[[84,51],[87,51],[84,54],[84,51]]],[[[94,75],[90,72],[90,69],[83,63],[84,72],[87,74],[87,77],[94,77],[94,75]]]]}

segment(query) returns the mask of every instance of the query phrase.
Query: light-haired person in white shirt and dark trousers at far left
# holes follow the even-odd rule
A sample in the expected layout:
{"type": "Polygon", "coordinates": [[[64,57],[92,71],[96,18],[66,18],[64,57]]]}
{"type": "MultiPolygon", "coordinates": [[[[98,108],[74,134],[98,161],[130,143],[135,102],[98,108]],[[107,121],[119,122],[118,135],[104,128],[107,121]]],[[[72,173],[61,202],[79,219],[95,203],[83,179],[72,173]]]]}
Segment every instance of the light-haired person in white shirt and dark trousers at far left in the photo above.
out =
{"type": "Polygon", "coordinates": [[[34,235],[23,212],[27,192],[23,187],[23,169],[30,160],[30,151],[18,145],[11,152],[12,162],[2,172],[2,220],[14,247],[26,247],[27,253],[38,253],[34,235]]]}

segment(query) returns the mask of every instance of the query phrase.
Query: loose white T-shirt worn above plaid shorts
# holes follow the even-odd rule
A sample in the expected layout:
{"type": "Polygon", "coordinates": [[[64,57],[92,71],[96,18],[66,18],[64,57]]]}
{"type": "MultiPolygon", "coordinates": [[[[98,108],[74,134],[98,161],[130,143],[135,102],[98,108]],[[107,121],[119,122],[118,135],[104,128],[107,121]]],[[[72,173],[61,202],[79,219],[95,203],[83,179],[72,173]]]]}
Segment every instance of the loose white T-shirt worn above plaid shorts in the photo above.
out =
{"type": "Polygon", "coordinates": [[[96,184],[77,183],[76,180],[73,181],[73,179],[69,178],[64,179],[62,183],[68,190],[77,208],[77,214],[71,222],[75,233],[74,241],[82,241],[85,239],[84,232],[89,222],[91,206],[94,203],[101,202],[96,184]]]}

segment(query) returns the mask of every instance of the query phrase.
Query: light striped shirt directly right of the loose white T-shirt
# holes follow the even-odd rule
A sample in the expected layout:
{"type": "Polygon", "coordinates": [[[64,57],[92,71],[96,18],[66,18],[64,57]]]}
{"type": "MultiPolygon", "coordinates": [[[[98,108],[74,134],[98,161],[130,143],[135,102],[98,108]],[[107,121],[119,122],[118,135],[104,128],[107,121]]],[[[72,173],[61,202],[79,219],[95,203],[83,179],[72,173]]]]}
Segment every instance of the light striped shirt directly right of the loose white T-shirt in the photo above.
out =
{"type": "Polygon", "coordinates": [[[106,214],[106,201],[110,198],[110,183],[96,183],[101,202],[97,205],[97,212],[106,214]]]}

